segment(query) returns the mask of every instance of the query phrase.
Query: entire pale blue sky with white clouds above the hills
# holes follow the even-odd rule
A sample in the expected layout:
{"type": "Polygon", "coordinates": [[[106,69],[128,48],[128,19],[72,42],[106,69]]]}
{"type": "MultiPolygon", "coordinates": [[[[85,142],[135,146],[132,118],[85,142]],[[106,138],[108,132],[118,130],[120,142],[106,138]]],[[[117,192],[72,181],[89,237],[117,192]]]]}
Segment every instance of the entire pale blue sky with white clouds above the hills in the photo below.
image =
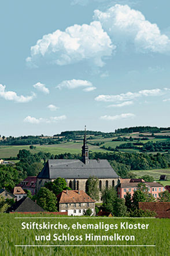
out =
{"type": "Polygon", "coordinates": [[[169,126],[169,0],[2,1],[0,134],[169,126]]]}

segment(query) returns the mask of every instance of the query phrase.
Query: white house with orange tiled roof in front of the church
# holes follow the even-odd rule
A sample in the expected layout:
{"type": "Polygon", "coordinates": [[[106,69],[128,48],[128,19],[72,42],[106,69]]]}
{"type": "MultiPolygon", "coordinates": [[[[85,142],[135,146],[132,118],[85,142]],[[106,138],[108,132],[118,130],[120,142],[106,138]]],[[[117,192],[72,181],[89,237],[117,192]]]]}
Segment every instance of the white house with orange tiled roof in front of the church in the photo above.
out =
{"type": "Polygon", "coordinates": [[[59,211],[69,216],[82,216],[89,208],[95,214],[95,201],[83,190],[63,190],[57,200],[59,211]]]}

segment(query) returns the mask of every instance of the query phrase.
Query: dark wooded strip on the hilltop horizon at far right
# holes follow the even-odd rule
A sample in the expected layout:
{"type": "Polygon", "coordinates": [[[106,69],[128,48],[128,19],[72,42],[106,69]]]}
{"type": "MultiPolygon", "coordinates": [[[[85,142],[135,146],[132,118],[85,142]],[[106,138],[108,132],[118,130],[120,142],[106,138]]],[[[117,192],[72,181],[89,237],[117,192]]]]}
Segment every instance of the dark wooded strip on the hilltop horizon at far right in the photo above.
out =
{"type": "Polygon", "coordinates": [[[122,133],[131,134],[132,132],[161,132],[161,131],[166,131],[166,130],[170,130],[170,127],[158,128],[158,127],[150,127],[150,126],[136,126],[136,127],[116,129],[115,133],[116,134],[122,134],[122,133]]]}

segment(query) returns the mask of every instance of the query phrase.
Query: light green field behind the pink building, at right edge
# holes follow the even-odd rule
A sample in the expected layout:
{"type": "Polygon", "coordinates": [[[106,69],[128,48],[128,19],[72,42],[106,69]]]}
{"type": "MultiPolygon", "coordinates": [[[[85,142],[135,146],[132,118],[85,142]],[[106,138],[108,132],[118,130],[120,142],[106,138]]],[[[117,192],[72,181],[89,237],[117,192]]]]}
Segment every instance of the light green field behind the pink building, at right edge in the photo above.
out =
{"type": "Polygon", "coordinates": [[[170,168],[167,169],[154,169],[154,170],[139,170],[139,171],[131,171],[133,174],[137,176],[137,178],[141,178],[143,175],[153,176],[155,181],[160,179],[160,175],[166,175],[167,181],[162,182],[162,185],[170,185],[170,168]]]}

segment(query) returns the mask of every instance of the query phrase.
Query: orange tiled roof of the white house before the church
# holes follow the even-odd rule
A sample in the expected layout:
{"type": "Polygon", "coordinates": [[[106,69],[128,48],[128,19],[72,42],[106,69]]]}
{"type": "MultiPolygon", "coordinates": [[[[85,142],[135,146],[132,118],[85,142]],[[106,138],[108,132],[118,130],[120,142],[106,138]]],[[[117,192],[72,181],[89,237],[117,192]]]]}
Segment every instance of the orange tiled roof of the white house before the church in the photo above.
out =
{"type": "Polygon", "coordinates": [[[63,190],[57,196],[58,203],[95,203],[83,190],[63,190]]]}

